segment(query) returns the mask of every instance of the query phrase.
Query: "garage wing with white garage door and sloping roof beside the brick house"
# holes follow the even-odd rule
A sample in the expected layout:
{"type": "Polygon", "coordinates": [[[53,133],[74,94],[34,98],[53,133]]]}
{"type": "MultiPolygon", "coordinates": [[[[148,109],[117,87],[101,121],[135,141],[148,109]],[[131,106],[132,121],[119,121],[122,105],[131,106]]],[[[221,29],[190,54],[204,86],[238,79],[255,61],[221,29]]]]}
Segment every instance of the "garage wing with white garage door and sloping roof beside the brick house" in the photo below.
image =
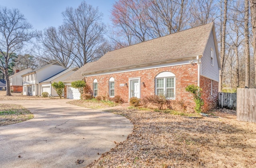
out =
{"type": "Polygon", "coordinates": [[[68,78],[66,78],[64,81],[65,84],[65,90],[64,90],[64,97],[67,99],[80,99],[80,92],[76,88],[71,87],[71,82],[75,82],[78,80],[83,80],[84,76],[82,76],[82,72],[84,72],[84,68],[86,68],[87,65],[91,63],[86,63],[84,66],[79,68],[74,74],[70,75],[68,78]]]}

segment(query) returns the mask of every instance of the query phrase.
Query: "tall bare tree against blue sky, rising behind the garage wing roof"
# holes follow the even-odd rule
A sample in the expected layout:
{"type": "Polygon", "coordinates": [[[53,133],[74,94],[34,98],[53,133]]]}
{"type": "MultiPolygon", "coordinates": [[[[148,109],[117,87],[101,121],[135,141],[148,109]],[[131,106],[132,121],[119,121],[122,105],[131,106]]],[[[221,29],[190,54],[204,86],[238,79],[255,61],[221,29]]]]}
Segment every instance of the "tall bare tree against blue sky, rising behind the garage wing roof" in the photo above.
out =
{"type": "Polygon", "coordinates": [[[95,61],[99,58],[99,51],[104,44],[104,23],[102,23],[102,13],[98,8],[83,1],[78,8],[66,8],[62,12],[64,25],[70,30],[70,35],[74,38],[75,56],[74,64],[83,66],[84,64],[95,61]]]}

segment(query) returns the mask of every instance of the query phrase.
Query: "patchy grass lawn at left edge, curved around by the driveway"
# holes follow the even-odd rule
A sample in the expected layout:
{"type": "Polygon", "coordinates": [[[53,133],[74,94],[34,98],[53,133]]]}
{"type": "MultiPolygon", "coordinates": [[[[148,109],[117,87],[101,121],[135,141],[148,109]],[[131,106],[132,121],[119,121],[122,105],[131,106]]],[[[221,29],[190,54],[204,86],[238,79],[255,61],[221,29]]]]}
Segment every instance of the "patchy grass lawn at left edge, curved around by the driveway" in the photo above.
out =
{"type": "Polygon", "coordinates": [[[20,123],[33,117],[34,115],[22,105],[0,104],[0,126],[20,123]]]}

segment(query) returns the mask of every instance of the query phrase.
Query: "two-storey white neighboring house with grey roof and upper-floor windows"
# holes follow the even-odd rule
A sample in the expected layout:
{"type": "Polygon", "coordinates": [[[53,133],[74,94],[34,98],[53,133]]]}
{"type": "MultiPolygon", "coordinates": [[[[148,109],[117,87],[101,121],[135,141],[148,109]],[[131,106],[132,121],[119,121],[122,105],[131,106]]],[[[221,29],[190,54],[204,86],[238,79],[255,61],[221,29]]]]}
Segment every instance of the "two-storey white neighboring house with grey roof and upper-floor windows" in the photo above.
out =
{"type": "Polygon", "coordinates": [[[66,70],[67,68],[60,64],[58,61],[55,63],[47,64],[36,68],[24,75],[23,81],[23,95],[28,96],[41,96],[42,90],[50,89],[47,87],[42,88],[40,82],[66,70]]]}

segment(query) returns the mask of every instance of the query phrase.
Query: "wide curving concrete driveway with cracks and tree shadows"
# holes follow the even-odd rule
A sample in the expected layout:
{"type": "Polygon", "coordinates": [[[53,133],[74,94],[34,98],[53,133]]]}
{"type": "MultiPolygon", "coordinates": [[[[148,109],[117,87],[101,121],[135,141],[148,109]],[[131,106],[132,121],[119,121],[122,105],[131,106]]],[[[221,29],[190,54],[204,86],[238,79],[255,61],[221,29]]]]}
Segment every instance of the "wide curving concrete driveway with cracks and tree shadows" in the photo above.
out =
{"type": "Polygon", "coordinates": [[[125,117],[67,101],[0,101],[23,105],[34,114],[34,119],[0,127],[0,167],[84,167],[132,132],[133,125],[125,117]],[[84,162],[77,164],[77,160],[84,162]]]}

